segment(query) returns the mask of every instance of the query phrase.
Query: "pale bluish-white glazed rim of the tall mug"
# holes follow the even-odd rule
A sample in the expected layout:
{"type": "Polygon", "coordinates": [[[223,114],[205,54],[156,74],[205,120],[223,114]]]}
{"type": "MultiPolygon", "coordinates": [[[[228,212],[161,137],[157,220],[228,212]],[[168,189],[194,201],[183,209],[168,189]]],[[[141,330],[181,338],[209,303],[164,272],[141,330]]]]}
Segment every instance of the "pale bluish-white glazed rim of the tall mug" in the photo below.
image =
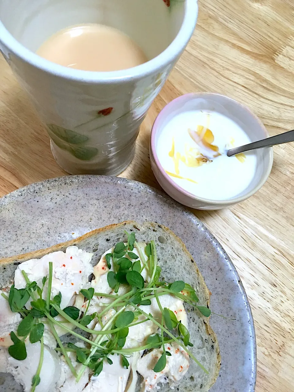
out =
{"type": "MultiPolygon", "coordinates": [[[[163,0],[162,0],[163,1],[163,0]]],[[[2,42],[15,56],[24,62],[54,76],[67,80],[74,80],[83,83],[124,83],[153,74],[154,71],[162,69],[171,64],[187,46],[193,32],[198,17],[198,0],[185,0],[185,12],[180,31],[171,44],[158,56],[152,58],[144,64],[136,67],[123,69],[120,71],[96,72],[71,69],[55,64],[49,60],[38,56],[24,45],[20,44],[16,38],[6,29],[0,20],[0,42],[2,42]],[[130,73],[130,69],[132,72],[130,73]]]]}

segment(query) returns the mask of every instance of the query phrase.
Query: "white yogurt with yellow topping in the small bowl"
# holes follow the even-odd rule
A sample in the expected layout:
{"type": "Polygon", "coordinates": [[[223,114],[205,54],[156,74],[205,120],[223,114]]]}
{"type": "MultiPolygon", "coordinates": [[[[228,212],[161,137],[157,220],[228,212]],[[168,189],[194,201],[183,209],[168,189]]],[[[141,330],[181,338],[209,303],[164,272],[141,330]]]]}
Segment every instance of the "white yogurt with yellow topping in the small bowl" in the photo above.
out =
{"type": "Polygon", "coordinates": [[[248,187],[256,171],[256,156],[249,152],[228,157],[224,151],[250,142],[237,123],[220,113],[187,111],[164,126],[156,152],[163,169],[185,191],[226,200],[248,187]]]}

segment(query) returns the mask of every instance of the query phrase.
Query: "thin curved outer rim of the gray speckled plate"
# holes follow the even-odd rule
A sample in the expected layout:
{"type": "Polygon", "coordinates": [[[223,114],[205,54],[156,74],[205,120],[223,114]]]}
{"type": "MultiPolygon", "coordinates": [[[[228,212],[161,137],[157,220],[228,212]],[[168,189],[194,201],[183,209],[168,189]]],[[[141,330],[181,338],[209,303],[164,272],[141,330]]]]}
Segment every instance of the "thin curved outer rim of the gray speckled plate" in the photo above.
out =
{"type": "MultiPolygon", "coordinates": [[[[65,176],[60,176],[60,177],[53,177],[49,178],[46,180],[38,181],[31,183],[29,185],[25,185],[24,187],[18,188],[13,192],[10,192],[0,198],[0,208],[4,207],[9,201],[13,201],[16,198],[22,196],[22,192],[28,192],[33,194],[32,191],[38,191],[45,185],[54,183],[54,182],[63,182],[63,183],[72,183],[74,184],[75,182],[79,181],[82,182],[83,178],[87,178],[89,180],[99,180],[100,178],[104,180],[105,182],[113,182],[113,183],[125,183],[127,185],[130,185],[132,183],[135,183],[139,185],[142,189],[145,191],[149,192],[154,192],[155,194],[158,194],[164,199],[167,199],[169,201],[172,201],[172,203],[176,204],[179,209],[181,209],[189,218],[191,218],[193,221],[197,223],[197,225],[201,228],[201,230],[205,233],[207,238],[211,243],[213,243],[218,250],[222,254],[222,256],[225,258],[227,261],[228,265],[230,266],[230,269],[234,273],[234,276],[236,277],[237,284],[239,286],[239,289],[241,291],[242,297],[245,301],[245,307],[246,307],[246,312],[248,314],[249,322],[252,325],[252,343],[253,343],[253,372],[252,372],[252,392],[255,391],[256,387],[256,379],[257,379],[257,342],[256,342],[256,331],[255,331],[255,325],[254,325],[254,319],[252,315],[252,310],[250,306],[249,299],[247,297],[245,288],[243,286],[242,280],[238,274],[238,271],[236,270],[236,267],[234,266],[234,263],[230,259],[229,255],[221,245],[221,243],[218,241],[218,239],[211,233],[211,231],[205,226],[205,224],[198,219],[196,215],[194,215],[191,211],[189,211],[185,206],[181,205],[178,203],[176,200],[172,199],[168,194],[163,192],[160,189],[156,189],[155,187],[152,187],[150,185],[147,185],[145,183],[142,183],[140,181],[136,180],[130,180],[128,178],[123,178],[123,177],[113,177],[113,176],[102,176],[102,175],[96,175],[96,174],[76,174],[76,175],[65,175],[65,176]]],[[[249,390],[251,392],[251,390],[249,390]]]]}

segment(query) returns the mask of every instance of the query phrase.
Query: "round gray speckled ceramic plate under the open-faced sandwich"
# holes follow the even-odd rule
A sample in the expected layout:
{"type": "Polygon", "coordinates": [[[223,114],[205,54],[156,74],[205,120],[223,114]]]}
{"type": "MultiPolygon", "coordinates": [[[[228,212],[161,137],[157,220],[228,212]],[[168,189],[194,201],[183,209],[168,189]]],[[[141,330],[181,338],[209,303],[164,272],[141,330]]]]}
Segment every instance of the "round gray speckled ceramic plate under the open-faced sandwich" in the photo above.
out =
{"type": "Polygon", "coordinates": [[[103,176],[62,177],[29,185],[0,199],[0,258],[130,219],[156,221],[173,230],[212,292],[212,311],[236,318],[211,317],[221,351],[220,376],[211,392],[253,392],[256,339],[238,273],[202,223],[165,194],[136,181],[103,176]]]}

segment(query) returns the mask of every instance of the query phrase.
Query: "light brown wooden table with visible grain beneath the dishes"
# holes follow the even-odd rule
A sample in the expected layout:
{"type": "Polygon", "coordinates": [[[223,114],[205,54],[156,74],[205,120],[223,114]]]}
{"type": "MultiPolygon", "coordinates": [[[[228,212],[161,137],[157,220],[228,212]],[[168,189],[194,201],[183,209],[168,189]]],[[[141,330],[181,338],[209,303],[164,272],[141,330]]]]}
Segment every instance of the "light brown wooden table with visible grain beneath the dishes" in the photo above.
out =
{"type": "MultiPolygon", "coordinates": [[[[211,91],[249,106],[270,135],[294,128],[293,0],[200,0],[187,50],[152,105],[123,177],[159,187],[149,162],[156,114],[184,93],[211,91]]],[[[0,196],[66,173],[27,96],[0,58],[0,196]]],[[[294,144],[274,147],[269,181],[216,212],[194,211],[220,240],[249,297],[258,345],[257,392],[294,391],[294,144]]]]}

